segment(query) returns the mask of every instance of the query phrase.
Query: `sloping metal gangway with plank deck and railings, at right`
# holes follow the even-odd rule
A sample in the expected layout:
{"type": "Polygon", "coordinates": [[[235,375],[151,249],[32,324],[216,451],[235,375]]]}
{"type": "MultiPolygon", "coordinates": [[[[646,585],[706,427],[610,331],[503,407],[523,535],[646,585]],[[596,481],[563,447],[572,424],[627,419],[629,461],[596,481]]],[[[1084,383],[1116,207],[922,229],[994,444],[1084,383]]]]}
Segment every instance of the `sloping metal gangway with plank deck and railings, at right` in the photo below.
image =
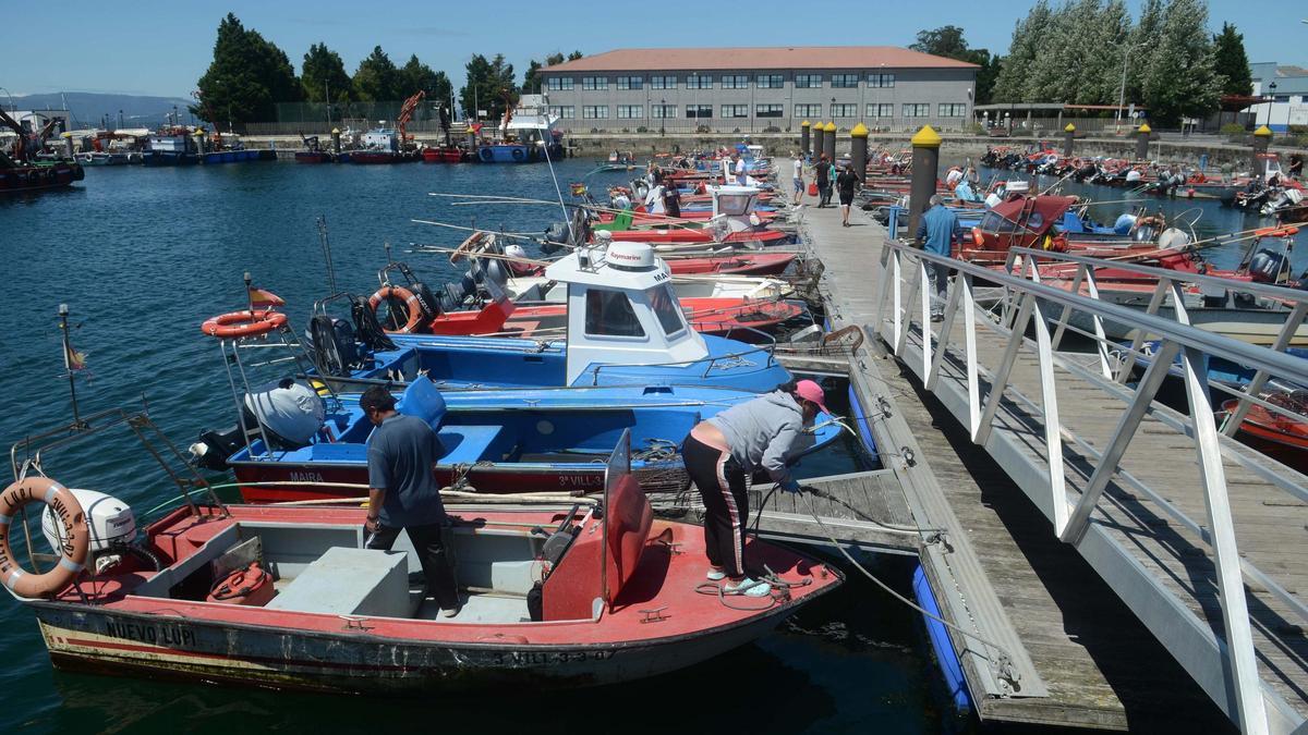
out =
{"type": "Polygon", "coordinates": [[[1232,436],[1254,405],[1303,419],[1258,394],[1273,379],[1308,385],[1308,362],[1283,352],[1308,314],[1308,293],[1037,250],[1014,255],[1020,260],[997,271],[888,239],[869,331],[1243,731],[1301,730],[1308,479],[1232,436]],[[1041,276],[1052,264],[1058,284],[1041,276]],[[939,322],[927,268],[952,277],[939,322]],[[1104,268],[1158,279],[1148,307],[1100,299],[1104,268]],[[1274,347],[1194,327],[1186,284],[1283,305],[1274,347]],[[1105,326],[1124,324],[1134,328],[1129,344],[1105,336],[1105,326]],[[1069,333],[1090,352],[1061,352],[1069,333]],[[1253,370],[1249,386],[1210,385],[1209,357],[1253,370]],[[1133,385],[1141,361],[1148,368],[1133,385]],[[1185,412],[1156,400],[1169,374],[1184,386],[1185,412]],[[1224,425],[1210,390],[1237,399],[1224,425]]]}

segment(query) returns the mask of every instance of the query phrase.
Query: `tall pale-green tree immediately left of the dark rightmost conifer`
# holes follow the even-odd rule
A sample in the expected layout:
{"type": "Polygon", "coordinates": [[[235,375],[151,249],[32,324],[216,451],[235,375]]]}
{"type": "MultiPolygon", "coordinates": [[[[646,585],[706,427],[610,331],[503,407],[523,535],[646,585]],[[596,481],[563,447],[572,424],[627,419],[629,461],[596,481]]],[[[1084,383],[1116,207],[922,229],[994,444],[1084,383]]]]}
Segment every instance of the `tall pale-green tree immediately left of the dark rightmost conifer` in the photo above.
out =
{"type": "Polygon", "coordinates": [[[1222,78],[1214,71],[1207,24],[1203,0],[1171,0],[1163,12],[1142,86],[1150,119],[1158,124],[1176,126],[1182,116],[1205,116],[1218,109],[1222,78]]]}

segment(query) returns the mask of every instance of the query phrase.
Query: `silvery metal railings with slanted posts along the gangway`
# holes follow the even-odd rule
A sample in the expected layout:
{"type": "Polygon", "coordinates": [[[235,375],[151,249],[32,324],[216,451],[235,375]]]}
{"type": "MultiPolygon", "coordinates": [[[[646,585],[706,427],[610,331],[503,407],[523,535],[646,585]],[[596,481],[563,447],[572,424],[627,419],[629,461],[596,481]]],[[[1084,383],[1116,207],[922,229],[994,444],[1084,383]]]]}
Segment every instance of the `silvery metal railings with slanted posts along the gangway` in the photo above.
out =
{"type": "MultiPolygon", "coordinates": [[[[1188,273],[1185,277],[1180,277],[1177,273],[1163,273],[1160,276],[1165,279],[1165,285],[1155,293],[1172,296],[1173,314],[1168,318],[1158,313],[1156,305],[1152,310],[1139,311],[1097,298],[1095,269],[1121,268],[1122,263],[1059,256],[1075,262],[1080,273],[1079,281],[1073,288],[1063,289],[1040,282],[1037,265],[1044,256],[1046,254],[1040,251],[1024,252],[1028,264],[1027,272],[1033,275],[1032,279],[1025,279],[1010,272],[925,252],[905,242],[889,239],[886,242],[882,256],[882,288],[875,330],[891,345],[895,354],[920,375],[929,391],[942,390],[942,369],[946,361],[950,361],[951,385],[956,385],[952,383],[956,379],[967,392],[965,421],[963,422],[969,429],[974,443],[988,445],[991,432],[998,424],[997,413],[1005,399],[1024,404],[1031,411],[1031,416],[1042,420],[1045,467],[1037,472],[1042,471],[1046,476],[1049,494],[1045,498],[1035,498],[1033,496],[1033,500],[1048,502],[1054,532],[1062,541],[1078,547],[1082,544],[1091,527],[1091,514],[1099,506],[1109,483],[1116,481],[1148,497],[1164,513],[1198,535],[1203,543],[1207,543],[1214,558],[1226,634],[1223,641],[1223,636],[1216,629],[1211,625],[1207,626],[1209,636],[1211,636],[1209,641],[1215,642],[1220,657],[1222,674],[1216,680],[1210,679],[1206,683],[1199,683],[1245,732],[1294,730],[1303,723],[1304,718],[1278,692],[1260,679],[1258,658],[1254,650],[1244,589],[1245,577],[1249,578],[1250,585],[1267,590],[1270,595],[1291,609],[1299,617],[1300,625],[1303,621],[1308,621],[1308,607],[1292,591],[1277,583],[1269,574],[1240,556],[1223,459],[1226,456],[1239,460],[1236,455],[1248,454],[1248,450],[1240,451],[1241,447],[1237,447],[1232,439],[1222,436],[1218,430],[1209,395],[1205,356],[1223,357],[1236,365],[1256,370],[1257,375],[1277,375],[1301,385],[1308,385],[1308,361],[1192,326],[1182,298],[1181,281],[1193,275],[1188,273]],[[938,332],[931,330],[934,297],[927,286],[927,268],[937,269],[940,277],[954,279],[943,305],[938,332]],[[978,305],[978,284],[995,286],[989,290],[999,293],[995,298],[999,301],[998,306],[1003,309],[994,318],[984,318],[982,315],[980,307],[982,305],[978,305]],[[1086,286],[1088,294],[1080,293],[1082,285],[1086,286]],[[1067,326],[1069,318],[1074,314],[1091,318],[1092,331],[1082,330],[1082,333],[1095,341],[1099,370],[1086,369],[1054,349],[1057,344],[1054,335],[1057,333],[1061,340],[1062,333],[1070,328],[1067,326]],[[961,336],[956,336],[955,332],[959,330],[955,330],[955,324],[960,319],[963,322],[961,336]],[[1159,343],[1151,358],[1152,362],[1134,390],[1120,382],[1125,379],[1121,366],[1117,366],[1114,371],[1114,365],[1112,365],[1110,350],[1120,349],[1120,345],[1104,336],[1103,326],[1108,322],[1134,326],[1141,335],[1147,333],[1159,343]],[[1033,327],[1035,340],[1025,337],[1028,327],[1033,327]],[[1003,350],[999,364],[991,369],[985,369],[981,365],[978,345],[982,343],[978,341],[978,330],[988,330],[1002,340],[1003,350]],[[912,349],[910,336],[914,337],[912,349]],[[956,341],[960,344],[955,344],[956,341]],[[917,349],[921,349],[920,361],[913,354],[917,349]],[[956,354],[957,350],[961,350],[961,356],[956,354]],[[1023,350],[1033,353],[1039,365],[1039,402],[1023,395],[1010,381],[1014,377],[1019,353],[1023,350]],[[1189,416],[1158,411],[1154,404],[1163,379],[1173,369],[1173,361],[1179,361],[1189,416]],[[1105,395],[1122,402],[1124,408],[1117,416],[1116,428],[1107,442],[1092,446],[1083,438],[1065,430],[1059,421],[1056,369],[1073,373],[1083,381],[1099,386],[1105,395]],[[982,377],[986,378],[988,385],[982,383],[982,377]],[[1158,420],[1167,417],[1177,434],[1182,438],[1189,437],[1193,443],[1206,507],[1205,519],[1188,517],[1156,488],[1151,488],[1129,472],[1120,470],[1118,464],[1137,437],[1146,416],[1158,420]],[[1079,496],[1069,493],[1067,489],[1065,449],[1069,447],[1066,445],[1071,445],[1075,454],[1093,464],[1093,468],[1088,470],[1088,479],[1080,483],[1079,496]]],[[[1144,267],[1138,268],[1143,276],[1155,275],[1144,272],[1144,267]]],[[[1230,286],[1231,281],[1226,282],[1230,286]]],[[[1240,289],[1254,292],[1274,289],[1275,293],[1269,292],[1269,297],[1288,298],[1290,296],[1286,294],[1287,289],[1258,284],[1248,284],[1247,286],[1241,282],[1240,289]]],[[[1162,303],[1163,297],[1158,297],[1156,301],[1162,303]]],[[[1301,322],[1304,301],[1291,301],[1294,306],[1290,309],[1287,319],[1301,322]]],[[[935,310],[940,311],[940,305],[935,306],[935,310]]],[[[1292,335],[1295,326],[1287,324],[1287,330],[1292,335]]],[[[1138,348],[1139,343],[1133,345],[1133,349],[1138,348]]],[[[1249,391],[1245,400],[1264,404],[1265,402],[1252,395],[1253,392],[1249,391]]],[[[1269,480],[1269,488],[1286,492],[1299,502],[1308,500],[1308,488],[1304,485],[1308,480],[1303,475],[1271,460],[1261,464],[1265,467],[1260,476],[1269,480]]],[[[1158,572],[1144,572],[1144,574],[1158,574],[1158,572]]],[[[1160,582],[1155,581],[1155,585],[1160,585],[1160,582]]],[[[1201,621],[1201,625],[1205,624],[1201,621]]],[[[1192,674],[1197,679],[1203,677],[1193,668],[1192,674]]]]}

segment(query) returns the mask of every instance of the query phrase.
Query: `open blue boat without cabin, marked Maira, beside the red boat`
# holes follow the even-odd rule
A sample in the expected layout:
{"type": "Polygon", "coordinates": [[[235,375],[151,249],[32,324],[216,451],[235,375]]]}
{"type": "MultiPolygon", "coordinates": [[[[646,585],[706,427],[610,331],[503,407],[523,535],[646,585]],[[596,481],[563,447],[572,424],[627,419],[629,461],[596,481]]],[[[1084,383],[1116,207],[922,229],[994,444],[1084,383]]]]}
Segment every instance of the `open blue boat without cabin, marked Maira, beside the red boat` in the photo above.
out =
{"type": "MultiPolygon", "coordinates": [[[[755,398],[730,388],[607,386],[442,394],[425,375],[398,409],[426,421],[446,454],[437,480],[483,493],[582,494],[603,488],[603,459],[630,432],[632,471],[646,490],[680,492],[681,441],[701,420],[755,398]]],[[[207,432],[192,447],[201,464],[230,467],[249,502],[362,497],[374,426],[358,395],[332,396],[289,379],[246,394],[241,424],[207,432]],[[220,460],[221,458],[221,460],[220,460]]],[[[840,424],[819,415],[791,460],[831,443],[840,424]]]]}

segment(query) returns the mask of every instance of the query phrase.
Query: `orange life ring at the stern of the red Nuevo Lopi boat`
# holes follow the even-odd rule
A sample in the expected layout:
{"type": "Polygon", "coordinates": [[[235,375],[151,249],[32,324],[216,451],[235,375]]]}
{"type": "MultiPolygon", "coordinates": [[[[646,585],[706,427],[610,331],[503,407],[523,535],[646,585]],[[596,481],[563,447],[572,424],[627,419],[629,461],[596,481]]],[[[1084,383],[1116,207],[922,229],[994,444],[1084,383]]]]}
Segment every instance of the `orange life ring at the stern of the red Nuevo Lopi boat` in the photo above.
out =
{"type": "Polygon", "coordinates": [[[81,574],[90,548],[86,517],[68,488],[50,477],[27,477],[10,483],[0,493],[0,579],[9,591],[22,598],[48,598],[61,592],[81,574]],[[59,564],[44,574],[24,572],[9,548],[9,524],[18,509],[30,502],[43,502],[55,511],[64,526],[59,564]]]}

